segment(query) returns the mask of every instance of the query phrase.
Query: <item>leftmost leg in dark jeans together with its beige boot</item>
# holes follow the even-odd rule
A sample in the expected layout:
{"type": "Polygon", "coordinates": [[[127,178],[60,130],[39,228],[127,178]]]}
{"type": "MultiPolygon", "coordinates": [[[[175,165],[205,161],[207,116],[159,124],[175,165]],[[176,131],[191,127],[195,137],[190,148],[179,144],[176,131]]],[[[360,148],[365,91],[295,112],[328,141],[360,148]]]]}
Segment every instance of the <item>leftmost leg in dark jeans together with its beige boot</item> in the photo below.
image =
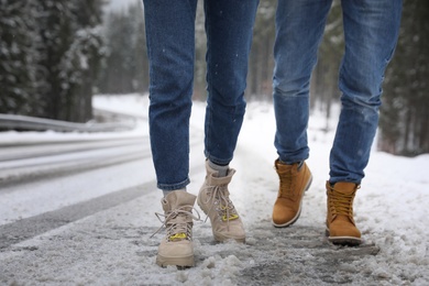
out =
{"type": "Polygon", "coordinates": [[[144,0],[150,59],[150,135],[166,237],[160,266],[194,265],[193,206],[189,183],[189,117],[191,109],[195,16],[197,0],[144,0]]]}

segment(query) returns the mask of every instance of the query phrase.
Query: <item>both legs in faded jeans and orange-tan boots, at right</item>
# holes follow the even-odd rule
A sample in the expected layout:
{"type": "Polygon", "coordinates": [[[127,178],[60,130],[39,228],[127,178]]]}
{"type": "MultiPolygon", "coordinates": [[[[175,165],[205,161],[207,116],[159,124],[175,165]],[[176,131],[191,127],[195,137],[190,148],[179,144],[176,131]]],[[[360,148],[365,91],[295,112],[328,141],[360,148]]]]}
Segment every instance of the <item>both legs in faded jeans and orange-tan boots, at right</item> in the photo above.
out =
{"type": "MultiPolygon", "coordinates": [[[[294,223],[311,183],[307,123],[311,72],[332,0],[278,0],[273,97],[276,116],[275,167],[280,179],[273,210],[275,227],[294,223]]],[[[330,153],[327,234],[356,245],[361,233],[353,199],[364,177],[378,124],[385,68],[396,46],[402,0],[344,0],[345,51],[339,73],[341,113],[330,153]]]]}

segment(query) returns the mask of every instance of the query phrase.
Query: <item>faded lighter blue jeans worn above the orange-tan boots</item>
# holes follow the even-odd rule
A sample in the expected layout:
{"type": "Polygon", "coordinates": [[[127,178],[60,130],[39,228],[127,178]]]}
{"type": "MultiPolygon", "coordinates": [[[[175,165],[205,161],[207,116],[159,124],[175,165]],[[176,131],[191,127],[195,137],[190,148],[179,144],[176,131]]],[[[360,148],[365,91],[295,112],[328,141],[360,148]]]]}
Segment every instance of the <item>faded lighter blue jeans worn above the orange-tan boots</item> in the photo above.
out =
{"type": "MultiPolygon", "coordinates": [[[[345,51],[341,114],[330,183],[360,184],[378,124],[382,82],[398,37],[402,0],[343,0],[345,51]]],[[[286,163],[307,160],[310,75],[332,0],[278,0],[273,97],[275,147],[286,163]]]]}

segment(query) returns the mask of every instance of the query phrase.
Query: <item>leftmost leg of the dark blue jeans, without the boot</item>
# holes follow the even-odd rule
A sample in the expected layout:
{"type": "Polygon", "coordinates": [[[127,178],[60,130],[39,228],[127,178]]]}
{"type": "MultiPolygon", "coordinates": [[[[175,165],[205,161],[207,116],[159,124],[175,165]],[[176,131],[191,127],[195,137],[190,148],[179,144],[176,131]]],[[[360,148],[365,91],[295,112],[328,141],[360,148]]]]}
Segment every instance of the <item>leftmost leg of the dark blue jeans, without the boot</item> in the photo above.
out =
{"type": "Polygon", "coordinates": [[[144,0],[151,147],[162,190],[189,183],[196,6],[197,0],[144,0]]]}

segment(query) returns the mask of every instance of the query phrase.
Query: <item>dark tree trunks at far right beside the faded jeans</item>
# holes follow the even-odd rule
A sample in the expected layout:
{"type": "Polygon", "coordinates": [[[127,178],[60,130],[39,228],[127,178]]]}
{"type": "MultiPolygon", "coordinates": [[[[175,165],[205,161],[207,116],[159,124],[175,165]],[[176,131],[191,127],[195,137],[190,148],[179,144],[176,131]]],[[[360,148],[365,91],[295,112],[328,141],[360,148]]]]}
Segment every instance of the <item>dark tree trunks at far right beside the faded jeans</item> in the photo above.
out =
{"type": "Polygon", "coordinates": [[[429,2],[404,1],[399,41],[384,85],[378,147],[429,153],[429,2]]]}

